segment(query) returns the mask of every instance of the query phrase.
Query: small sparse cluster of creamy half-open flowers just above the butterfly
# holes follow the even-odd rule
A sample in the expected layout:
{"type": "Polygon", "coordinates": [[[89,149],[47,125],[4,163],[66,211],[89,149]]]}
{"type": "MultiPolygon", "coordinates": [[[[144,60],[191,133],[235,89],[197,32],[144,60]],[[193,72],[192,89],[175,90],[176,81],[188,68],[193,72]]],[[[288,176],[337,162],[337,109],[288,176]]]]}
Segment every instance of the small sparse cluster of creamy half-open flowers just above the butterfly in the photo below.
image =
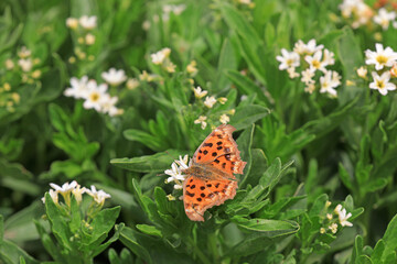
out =
{"type": "MultiPolygon", "coordinates": [[[[227,102],[226,97],[219,97],[215,98],[213,96],[207,96],[208,91],[203,90],[200,86],[196,88],[193,87],[194,97],[196,98],[197,102],[202,107],[202,110],[206,111],[214,107],[216,102],[219,102],[221,105],[225,105],[227,102]],[[202,101],[202,98],[205,97],[205,100],[202,101]]],[[[217,116],[221,123],[228,123],[230,121],[230,118],[227,114],[234,114],[235,110],[228,110],[228,111],[222,111],[221,116],[217,116]]],[[[201,124],[202,130],[204,130],[207,127],[207,116],[200,116],[196,120],[194,120],[195,124],[201,124]]]]}

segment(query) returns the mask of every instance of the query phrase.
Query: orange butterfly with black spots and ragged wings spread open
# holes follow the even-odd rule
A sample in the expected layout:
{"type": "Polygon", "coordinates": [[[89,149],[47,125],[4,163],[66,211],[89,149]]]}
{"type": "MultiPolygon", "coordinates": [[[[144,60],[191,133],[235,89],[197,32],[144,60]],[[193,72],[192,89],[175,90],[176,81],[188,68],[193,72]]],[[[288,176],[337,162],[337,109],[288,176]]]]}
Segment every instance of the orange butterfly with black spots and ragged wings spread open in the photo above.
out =
{"type": "Polygon", "coordinates": [[[230,124],[217,127],[198,146],[187,168],[182,173],[183,204],[192,221],[204,221],[204,212],[219,206],[236,195],[237,179],[233,174],[243,174],[243,162],[230,124]]]}

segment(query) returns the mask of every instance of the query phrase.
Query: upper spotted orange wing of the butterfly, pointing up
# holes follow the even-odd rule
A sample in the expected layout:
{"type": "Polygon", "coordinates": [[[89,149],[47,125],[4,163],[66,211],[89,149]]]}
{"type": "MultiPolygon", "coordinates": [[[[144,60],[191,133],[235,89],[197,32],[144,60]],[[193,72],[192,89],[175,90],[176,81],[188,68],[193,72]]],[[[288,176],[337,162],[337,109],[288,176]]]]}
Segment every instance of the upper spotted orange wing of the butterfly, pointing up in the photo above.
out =
{"type": "Polygon", "coordinates": [[[237,143],[232,136],[235,130],[230,124],[217,127],[194,153],[193,164],[210,165],[229,175],[243,174],[246,162],[242,161],[237,143]]]}

